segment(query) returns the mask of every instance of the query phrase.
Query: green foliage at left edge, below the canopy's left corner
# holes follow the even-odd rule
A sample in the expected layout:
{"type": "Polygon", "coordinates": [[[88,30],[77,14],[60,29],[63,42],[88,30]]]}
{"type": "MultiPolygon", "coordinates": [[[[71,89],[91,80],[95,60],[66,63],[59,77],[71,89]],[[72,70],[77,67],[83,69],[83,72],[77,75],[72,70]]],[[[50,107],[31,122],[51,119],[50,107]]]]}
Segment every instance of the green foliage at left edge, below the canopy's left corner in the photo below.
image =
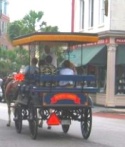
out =
{"type": "Polygon", "coordinates": [[[0,49],[0,75],[5,76],[14,71],[18,72],[22,64],[27,65],[28,63],[29,54],[26,49],[0,49]]]}

